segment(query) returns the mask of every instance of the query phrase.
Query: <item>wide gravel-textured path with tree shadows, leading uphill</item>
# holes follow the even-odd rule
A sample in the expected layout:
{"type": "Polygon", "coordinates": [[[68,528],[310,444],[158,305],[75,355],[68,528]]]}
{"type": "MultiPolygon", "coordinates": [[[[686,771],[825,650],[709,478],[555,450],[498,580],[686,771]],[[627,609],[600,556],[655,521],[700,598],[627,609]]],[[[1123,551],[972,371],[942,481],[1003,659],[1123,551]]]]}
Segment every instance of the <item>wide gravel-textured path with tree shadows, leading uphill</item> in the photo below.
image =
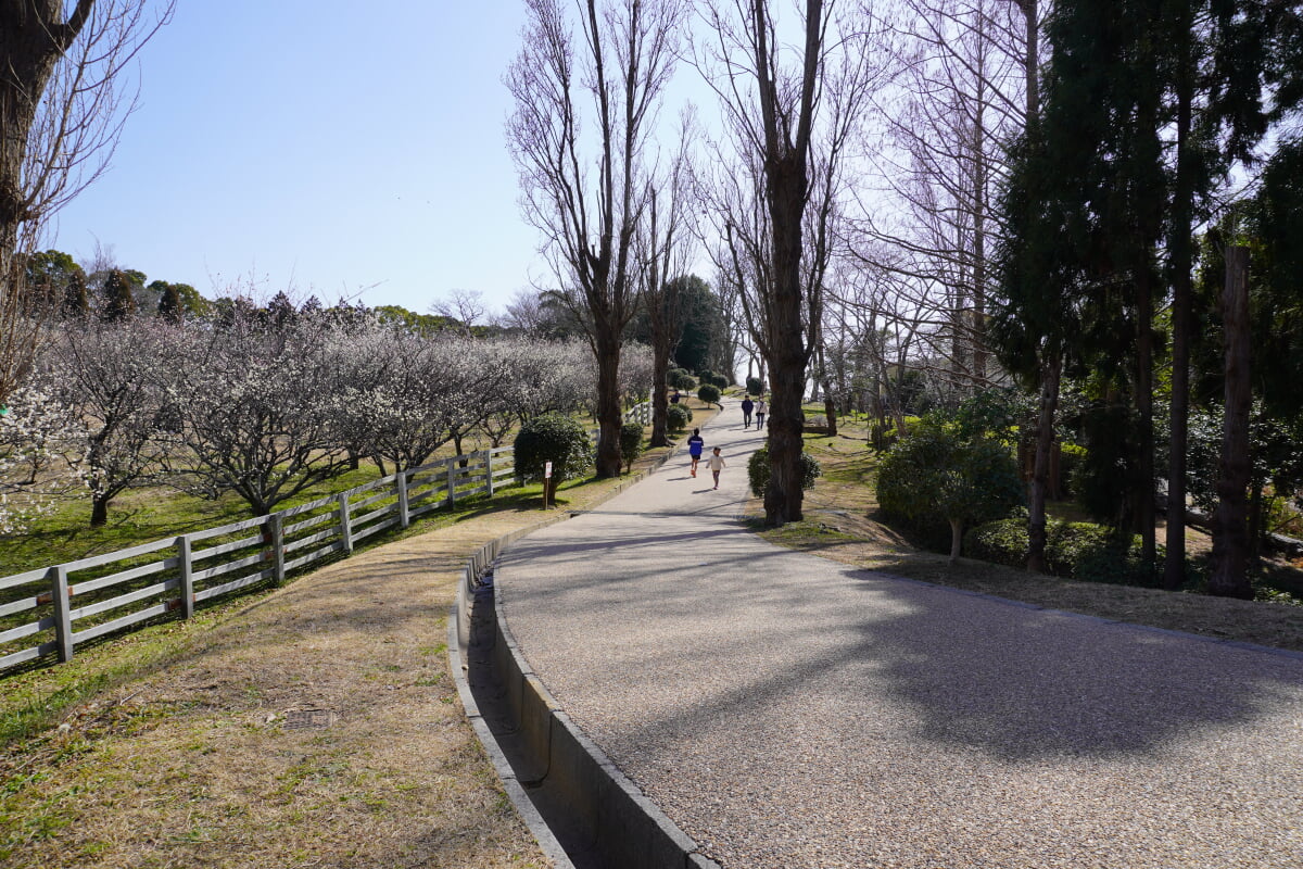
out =
{"type": "Polygon", "coordinates": [[[499,568],[575,720],[726,869],[1303,866],[1303,659],[774,547],[736,403],[499,568]]]}

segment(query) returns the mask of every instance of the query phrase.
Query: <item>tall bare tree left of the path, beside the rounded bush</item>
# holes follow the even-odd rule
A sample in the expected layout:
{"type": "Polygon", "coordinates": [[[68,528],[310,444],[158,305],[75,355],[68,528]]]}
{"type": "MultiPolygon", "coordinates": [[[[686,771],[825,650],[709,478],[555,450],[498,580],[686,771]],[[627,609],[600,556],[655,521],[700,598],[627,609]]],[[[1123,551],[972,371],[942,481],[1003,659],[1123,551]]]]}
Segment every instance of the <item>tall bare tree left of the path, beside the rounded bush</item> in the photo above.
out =
{"type": "Polygon", "coordinates": [[[650,193],[644,147],[674,68],[683,0],[526,0],[524,46],[507,73],[507,125],[521,203],[562,284],[575,288],[597,360],[599,477],[619,476],[618,371],[635,313],[633,240],[650,193]],[[585,126],[590,125],[590,126],[585,126]]]}

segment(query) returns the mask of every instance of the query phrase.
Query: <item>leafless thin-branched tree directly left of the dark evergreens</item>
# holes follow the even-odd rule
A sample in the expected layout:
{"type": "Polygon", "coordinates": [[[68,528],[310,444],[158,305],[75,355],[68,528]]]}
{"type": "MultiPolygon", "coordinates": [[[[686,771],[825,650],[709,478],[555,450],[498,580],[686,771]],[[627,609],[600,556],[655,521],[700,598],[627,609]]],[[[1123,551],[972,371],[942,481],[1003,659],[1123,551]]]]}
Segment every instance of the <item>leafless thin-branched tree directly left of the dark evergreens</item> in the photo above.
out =
{"type": "Polygon", "coordinates": [[[878,112],[881,185],[865,190],[859,244],[887,242],[890,261],[876,264],[900,270],[902,289],[928,311],[928,354],[967,391],[995,377],[984,335],[999,236],[993,201],[1003,149],[1025,126],[1035,5],[1031,31],[1007,0],[906,0],[899,13],[899,87],[878,112]]]}

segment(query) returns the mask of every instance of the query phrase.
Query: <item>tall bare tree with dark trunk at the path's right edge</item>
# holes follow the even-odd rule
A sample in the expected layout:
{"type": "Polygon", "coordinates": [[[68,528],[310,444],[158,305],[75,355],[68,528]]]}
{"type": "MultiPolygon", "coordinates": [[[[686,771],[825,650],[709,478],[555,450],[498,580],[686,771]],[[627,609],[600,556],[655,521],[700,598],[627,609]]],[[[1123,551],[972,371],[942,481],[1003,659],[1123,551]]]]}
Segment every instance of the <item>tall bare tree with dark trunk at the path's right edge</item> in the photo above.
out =
{"type": "Polygon", "coordinates": [[[744,304],[769,367],[765,521],[771,526],[801,519],[807,366],[817,345],[844,163],[877,85],[870,21],[834,16],[834,5],[800,5],[803,38],[791,64],[767,3],[700,7],[710,42],[698,47],[697,64],[721,98],[736,155],[726,169],[731,182],[717,175],[713,205],[736,285],[754,288],[744,304]]]}

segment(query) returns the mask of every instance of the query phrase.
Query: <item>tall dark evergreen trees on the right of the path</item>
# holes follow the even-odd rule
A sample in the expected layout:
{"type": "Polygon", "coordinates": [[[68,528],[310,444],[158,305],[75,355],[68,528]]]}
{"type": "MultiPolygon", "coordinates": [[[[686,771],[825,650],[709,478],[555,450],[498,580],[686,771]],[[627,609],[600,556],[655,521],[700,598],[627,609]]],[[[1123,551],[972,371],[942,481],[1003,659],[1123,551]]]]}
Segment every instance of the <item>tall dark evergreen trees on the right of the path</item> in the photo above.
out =
{"type": "MultiPolygon", "coordinates": [[[[1044,567],[1044,457],[1062,380],[1071,377],[1089,382],[1092,412],[1109,420],[1114,434],[1118,427],[1124,431],[1118,451],[1097,459],[1113,461],[1121,473],[1126,496],[1115,524],[1141,535],[1149,563],[1157,550],[1154,483],[1166,477],[1165,584],[1177,588],[1184,580],[1187,420],[1197,318],[1222,326],[1217,343],[1229,353],[1208,371],[1225,387],[1220,404],[1226,409],[1227,444],[1212,590],[1252,594],[1244,571],[1226,567],[1243,564],[1242,546],[1231,543],[1226,529],[1246,521],[1235,498],[1242,500],[1247,478],[1235,468],[1248,461],[1250,396],[1237,384],[1250,383],[1238,377],[1250,370],[1250,361],[1237,348],[1255,343],[1237,328],[1244,322],[1247,330],[1248,322],[1247,309],[1242,318],[1231,304],[1234,293],[1225,302],[1204,298],[1200,305],[1192,292],[1192,235],[1226,214],[1231,171],[1252,169],[1256,149],[1273,124],[1287,121],[1296,109],[1300,34],[1299,4],[1281,0],[1079,1],[1050,13],[1040,100],[1011,151],[1002,202],[1007,235],[1001,297],[992,324],[1002,362],[1037,386],[1041,396],[1031,568],[1044,567]],[[1170,348],[1158,318],[1165,305],[1170,348]],[[1162,444],[1169,466],[1160,472],[1154,395],[1162,363],[1170,366],[1171,397],[1170,438],[1162,444]]],[[[1281,334],[1290,332],[1287,311],[1296,309],[1285,284],[1296,279],[1273,270],[1272,262],[1290,254],[1278,245],[1268,251],[1261,236],[1256,241],[1248,236],[1270,236],[1298,220],[1296,176],[1286,168],[1295,149],[1290,139],[1281,145],[1264,184],[1243,206],[1259,219],[1212,237],[1217,255],[1231,263],[1240,261],[1244,242],[1260,248],[1256,261],[1267,271],[1257,298],[1272,306],[1268,319],[1278,330],[1285,326],[1281,334]],[[1270,216],[1263,220],[1264,215],[1270,216]]],[[[1252,266],[1248,272],[1231,268],[1222,283],[1239,281],[1247,292],[1252,272],[1252,266]]],[[[1265,397],[1263,390],[1257,395],[1265,397]]],[[[1102,452],[1102,443],[1095,446],[1102,452]]]]}

